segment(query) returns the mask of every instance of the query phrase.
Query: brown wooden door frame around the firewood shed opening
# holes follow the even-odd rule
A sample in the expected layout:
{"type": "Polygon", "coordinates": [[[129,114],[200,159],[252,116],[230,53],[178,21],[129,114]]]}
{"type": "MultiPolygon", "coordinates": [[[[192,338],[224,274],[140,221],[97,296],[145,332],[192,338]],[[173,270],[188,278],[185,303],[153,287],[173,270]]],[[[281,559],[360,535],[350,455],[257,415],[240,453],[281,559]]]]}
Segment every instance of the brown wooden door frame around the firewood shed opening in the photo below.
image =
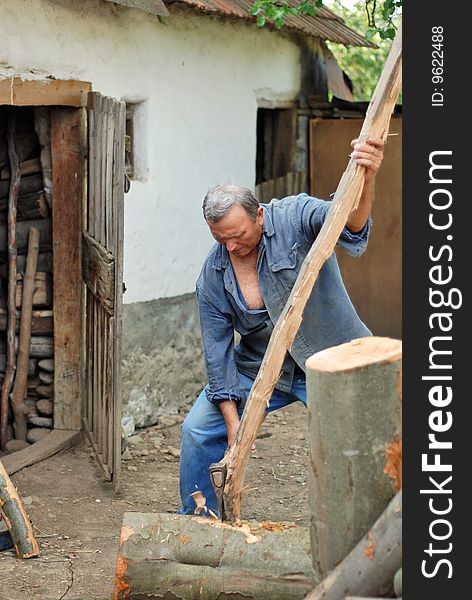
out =
{"type": "MultiPolygon", "coordinates": [[[[54,430],[44,440],[6,457],[4,465],[10,474],[71,447],[80,439],[83,429],[85,288],[82,283],[82,231],[87,194],[87,103],[90,91],[91,84],[82,81],[0,79],[0,105],[54,107],[51,112],[53,184],[55,199],[59,199],[53,204],[52,215],[56,361],[54,430]]],[[[118,354],[120,344],[121,332],[118,332],[114,340],[118,354]]],[[[119,446],[119,433],[117,439],[116,446],[119,446]]],[[[116,450],[116,454],[119,460],[120,452],[116,450]]]]}

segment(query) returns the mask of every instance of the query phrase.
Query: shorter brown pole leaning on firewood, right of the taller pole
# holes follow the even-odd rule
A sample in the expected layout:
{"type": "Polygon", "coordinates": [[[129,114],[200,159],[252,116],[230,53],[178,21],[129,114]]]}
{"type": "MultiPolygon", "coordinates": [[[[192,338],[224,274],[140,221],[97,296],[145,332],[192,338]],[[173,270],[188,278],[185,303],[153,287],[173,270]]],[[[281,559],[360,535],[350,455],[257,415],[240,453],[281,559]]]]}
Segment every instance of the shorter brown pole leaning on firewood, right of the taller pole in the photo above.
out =
{"type": "MultiPolygon", "coordinates": [[[[25,397],[26,380],[28,378],[28,361],[31,346],[31,314],[33,312],[33,295],[36,293],[35,275],[36,265],[38,264],[38,253],[39,231],[32,227],[29,234],[28,257],[26,259],[24,285],[22,286],[21,326],[18,343],[18,359],[16,364],[15,383],[13,385],[11,396],[15,419],[15,438],[18,440],[26,440],[26,419],[23,399],[25,397]]],[[[17,299],[18,287],[17,281],[17,299]]]]}

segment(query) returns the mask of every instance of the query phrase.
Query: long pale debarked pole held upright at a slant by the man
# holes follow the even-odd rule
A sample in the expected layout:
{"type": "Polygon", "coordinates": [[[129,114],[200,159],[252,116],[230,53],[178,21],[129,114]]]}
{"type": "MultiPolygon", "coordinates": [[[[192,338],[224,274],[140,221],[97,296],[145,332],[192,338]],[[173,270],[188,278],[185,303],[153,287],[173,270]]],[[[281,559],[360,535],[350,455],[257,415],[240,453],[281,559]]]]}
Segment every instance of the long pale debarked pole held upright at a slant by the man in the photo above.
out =
{"type": "MultiPolygon", "coordinates": [[[[370,102],[359,142],[369,137],[386,139],[390,117],[401,87],[401,25],[370,102]]],[[[287,350],[292,346],[302,321],[303,309],[318,273],[331,256],[362,194],[365,168],[349,161],[321,231],[308,252],[292,292],[272,332],[264,359],[249,394],[238,433],[223,460],[210,469],[217,496],[222,498],[222,519],[240,521],[241,494],[251,446],[264,420],[266,407],[280,376],[287,350]]]]}

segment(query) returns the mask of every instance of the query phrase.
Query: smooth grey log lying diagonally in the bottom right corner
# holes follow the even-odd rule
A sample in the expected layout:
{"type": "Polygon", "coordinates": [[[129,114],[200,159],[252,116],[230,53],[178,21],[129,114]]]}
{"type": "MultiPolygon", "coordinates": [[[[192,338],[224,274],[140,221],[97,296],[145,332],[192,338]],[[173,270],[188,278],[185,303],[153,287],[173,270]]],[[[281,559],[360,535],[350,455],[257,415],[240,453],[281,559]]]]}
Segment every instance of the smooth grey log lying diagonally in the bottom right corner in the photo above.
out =
{"type": "Polygon", "coordinates": [[[306,597],[339,600],[349,595],[385,596],[402,563],[402,493],[393,498],[372,529],[306,597]]]}

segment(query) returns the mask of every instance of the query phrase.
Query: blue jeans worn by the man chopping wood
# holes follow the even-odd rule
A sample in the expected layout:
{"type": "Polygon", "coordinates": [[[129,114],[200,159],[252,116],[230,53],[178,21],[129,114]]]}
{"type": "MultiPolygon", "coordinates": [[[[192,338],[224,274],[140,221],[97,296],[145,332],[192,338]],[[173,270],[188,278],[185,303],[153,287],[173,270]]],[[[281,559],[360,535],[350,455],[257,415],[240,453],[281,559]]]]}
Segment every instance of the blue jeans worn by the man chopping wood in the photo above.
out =
{"type": "MultiPolygon", "coordinates": [[[[249,397],[253,379],[239,373],[241,385],[249,397]]],[[[295,377],[290,393],[274,390],[266,414],[300,400],[306,406],[305,377],[295,377]]],[[[238,407],[241,417],[244,403],[238,407]]],[[[180,514],[193,515],[195,502],[190,496],[199,490],[206,498],[206,506],[218,514],[215,492],[210,481],[210,465],[219,462],[228,446],[226,423],[218,405],[212,404],[202,390],[182,424],[180,447],[180,514]]]]}

